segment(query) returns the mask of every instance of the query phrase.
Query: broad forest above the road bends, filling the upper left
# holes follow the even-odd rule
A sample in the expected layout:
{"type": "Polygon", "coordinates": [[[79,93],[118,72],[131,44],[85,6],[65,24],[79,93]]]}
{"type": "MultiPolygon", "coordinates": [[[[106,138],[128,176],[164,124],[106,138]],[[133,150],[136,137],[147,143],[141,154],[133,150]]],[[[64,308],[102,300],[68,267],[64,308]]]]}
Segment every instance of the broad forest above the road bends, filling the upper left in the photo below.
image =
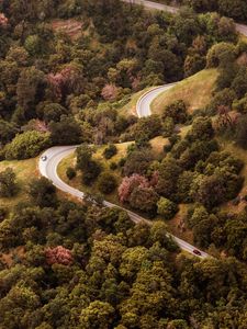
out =
{"type": "Polygon", "coordinates": [[[0,12],[0,156],[8,159],[35,156],[47,138],[114,139],[135,123],[117,113],[133,91],[192,75],[213,44],[237,41],[233,22],[217,14],[170,16],[122,1],[3,0],[0,12]],[[74,16],[83,22],[78,38],[52,29],[50,19],[74,16]]]}

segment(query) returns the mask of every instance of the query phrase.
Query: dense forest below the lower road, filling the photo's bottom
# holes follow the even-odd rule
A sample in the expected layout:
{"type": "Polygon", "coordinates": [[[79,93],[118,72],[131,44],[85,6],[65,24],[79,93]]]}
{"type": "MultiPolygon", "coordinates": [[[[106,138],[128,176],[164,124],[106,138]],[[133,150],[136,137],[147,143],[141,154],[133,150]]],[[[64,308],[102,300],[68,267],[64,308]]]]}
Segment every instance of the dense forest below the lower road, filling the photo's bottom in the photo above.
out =
{"type": "Polygon", "coordinates": [[[1,211],[2,329],[246,328],[247,271],[235,258],[187,258],[164,223],[135,225],[119,208],[41,204],[49,184],[1,211]]]}

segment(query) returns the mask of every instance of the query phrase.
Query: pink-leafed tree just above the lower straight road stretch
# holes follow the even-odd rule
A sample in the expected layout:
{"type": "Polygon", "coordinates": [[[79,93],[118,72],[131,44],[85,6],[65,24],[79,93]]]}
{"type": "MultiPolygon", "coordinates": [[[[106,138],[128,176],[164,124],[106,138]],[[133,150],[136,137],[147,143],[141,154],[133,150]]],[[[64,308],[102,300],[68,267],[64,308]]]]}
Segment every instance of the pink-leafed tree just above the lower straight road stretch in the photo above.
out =
{"type": "Polygon", "coordinates": [[[145,177],[137,173],[133,173],[131,177],[125,177],[122,180],[122,183],[117,190],[120,201],[122,203],[127,202],[133,190],[138,186],[148,188],[149,186],[148,180],[145,177]]]}

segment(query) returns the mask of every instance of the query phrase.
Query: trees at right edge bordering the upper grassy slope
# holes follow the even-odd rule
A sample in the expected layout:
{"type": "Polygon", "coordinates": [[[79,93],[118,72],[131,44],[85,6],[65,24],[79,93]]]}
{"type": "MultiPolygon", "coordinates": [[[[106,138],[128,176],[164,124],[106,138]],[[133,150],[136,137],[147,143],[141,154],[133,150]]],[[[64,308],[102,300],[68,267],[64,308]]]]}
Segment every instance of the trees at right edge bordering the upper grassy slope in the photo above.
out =
{"type": "Polygon", "coordinates": [[[207,67],[217,67],[214,95],[206,109],[217,114],[217,132],[247,148],[247,69],[246,44],[214,45],[207,53],[207,67]]]}

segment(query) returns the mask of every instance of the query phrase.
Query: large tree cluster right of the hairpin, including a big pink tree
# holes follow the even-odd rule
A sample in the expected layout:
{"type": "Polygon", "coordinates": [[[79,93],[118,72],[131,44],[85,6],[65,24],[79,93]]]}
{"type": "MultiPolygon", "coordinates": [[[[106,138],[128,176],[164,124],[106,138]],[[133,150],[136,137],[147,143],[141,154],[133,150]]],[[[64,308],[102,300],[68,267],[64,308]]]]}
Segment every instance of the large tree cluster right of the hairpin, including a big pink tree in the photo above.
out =
{"type": "MultiPolygon", "coordinates": [[[[180,109],[180,102],[168,107],[176,104],[180,109]]],[[[165,113],[168,113],[167,107],[165,113]]],[[[198,116],[183,139],[179,135],[169,138],[170,145],[161,161],[157,161],[148,145],[136,145],[123,166],[121,202],[147,213],[158,207],[160,214],[168,212],[165,218],[170,218],[177,211],[173,203],[197,202],[213,209],[236,197],[243,185],[239,175],[243,162],[221,151],[214,135],[211,118],[198,116]]]]}

